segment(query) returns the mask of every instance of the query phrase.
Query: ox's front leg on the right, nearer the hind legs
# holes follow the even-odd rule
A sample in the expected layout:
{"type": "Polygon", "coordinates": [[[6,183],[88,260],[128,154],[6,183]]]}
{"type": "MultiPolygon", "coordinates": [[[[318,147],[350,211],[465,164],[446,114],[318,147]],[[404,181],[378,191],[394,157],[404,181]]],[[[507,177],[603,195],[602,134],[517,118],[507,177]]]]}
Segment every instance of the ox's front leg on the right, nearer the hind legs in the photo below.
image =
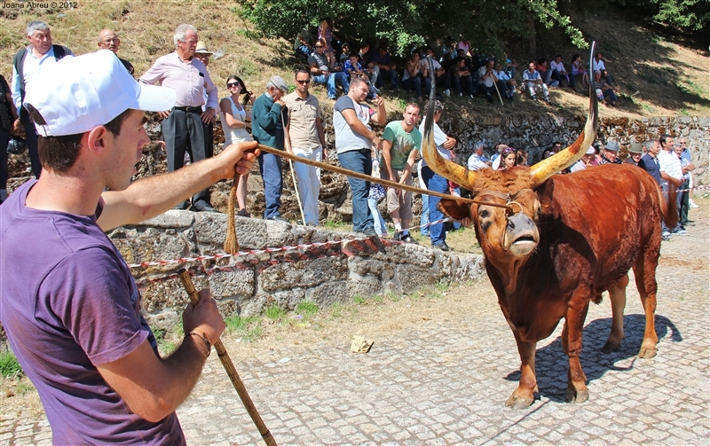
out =
{"type": "Polygon", "coordinates": [[[582,351],[582,330],[587,318],[589,300],[580,293],[587,293],[581,288],[577,290],[567,306],[562,331],[562,348],[570,358],[570,369],[567,372],[567,403],[584,403],[588,400],[587,377],[582,371],[580,353],[582,351]]]}

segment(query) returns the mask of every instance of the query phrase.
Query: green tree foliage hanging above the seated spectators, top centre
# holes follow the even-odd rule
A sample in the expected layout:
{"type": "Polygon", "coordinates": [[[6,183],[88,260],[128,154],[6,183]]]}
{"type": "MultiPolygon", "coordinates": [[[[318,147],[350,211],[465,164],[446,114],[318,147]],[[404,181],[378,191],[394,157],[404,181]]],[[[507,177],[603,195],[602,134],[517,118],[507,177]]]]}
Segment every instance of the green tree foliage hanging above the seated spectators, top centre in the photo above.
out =
{"type": "MultiPolygon", "coordinates": [[[[413,46],[435,44],[450,35],[474,43],[485,54],[502,55],[503,42],[511,37],[528,37],[535,22],[544,27],[558,25],[574,45],[586,48],[581,32],[559,11],[556,0],[511,0],[486,2],[465,0],[354,0],[323,3],[316,0],[241,0],[243,12],[256,27],[271,37],[292,39],[304,28],[315,29],[320,20],[333,21],[341,37],[389,43],[398,55],[413,46]],[[531,27],[531,23],[533,26],[531,27]]],[[[357,50],[355,43],[351,50],[357,50]]]]}

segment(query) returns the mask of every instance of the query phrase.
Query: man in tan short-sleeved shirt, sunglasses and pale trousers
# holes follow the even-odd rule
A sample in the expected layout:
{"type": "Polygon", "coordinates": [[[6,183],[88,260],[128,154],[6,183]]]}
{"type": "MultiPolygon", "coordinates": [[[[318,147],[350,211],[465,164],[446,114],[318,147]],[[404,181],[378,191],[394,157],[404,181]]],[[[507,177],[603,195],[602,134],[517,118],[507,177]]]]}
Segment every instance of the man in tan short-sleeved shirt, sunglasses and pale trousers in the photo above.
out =
{"type": "MultiPolygon", "coordinates": [[[[327,158],[326,137],[320,121],[318,98],[308,92],[311,74],[305,70],[296,72],[296,91],[283,100],[288,107],[288,124],[285,131],[286,151],[299,158],[322,160],[327,158]]],[[[320,169],[302,162],[294,163],[298,176],[298,195],[304,206],[304,224],[317,226],[320,192],[320,169]]]]}

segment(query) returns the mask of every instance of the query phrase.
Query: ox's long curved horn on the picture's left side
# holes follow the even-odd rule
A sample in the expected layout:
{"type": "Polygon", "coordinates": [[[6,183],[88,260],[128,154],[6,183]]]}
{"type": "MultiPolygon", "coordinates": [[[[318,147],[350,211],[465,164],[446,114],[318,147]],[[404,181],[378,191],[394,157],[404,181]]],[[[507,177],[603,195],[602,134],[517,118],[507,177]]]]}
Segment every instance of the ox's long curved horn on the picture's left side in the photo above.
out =
{"type": "Polygon", "coordinates": [[[429,76],[431,79],[431,91],[429,95],[429,106],[427,106],[427,117],[424,121],[424,135],[422,141],[422,157],[427,161],[427,166],[440,176],[461,184],[466,189],[473,189],[476,183],[476,172],[470,171],[456,164],[454,161],[444,159],[437,150],[434,143],[434,104],[437,101],[437,78],[434,73],[434,62],[427,56],[429,64],[429,76]]]}

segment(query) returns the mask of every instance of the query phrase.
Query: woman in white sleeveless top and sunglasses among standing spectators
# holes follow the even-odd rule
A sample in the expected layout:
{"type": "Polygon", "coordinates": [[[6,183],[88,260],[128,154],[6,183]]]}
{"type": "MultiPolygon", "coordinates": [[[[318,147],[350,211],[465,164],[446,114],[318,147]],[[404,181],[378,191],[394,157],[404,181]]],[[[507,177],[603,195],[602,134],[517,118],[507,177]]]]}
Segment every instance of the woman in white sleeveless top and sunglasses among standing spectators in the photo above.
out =
{"type": "MultiPolygon", "coordinates": [[[[254,104],[254,94],[247,90],[244,82],[236,75],[227,78],[227,90],[229,90],[230,96],[219,101],[222,129],[225,130],[225,147],[244,141],[253,141],[248,132],[248,129],[251,129],[251,112],[245,110],[244,106],[248,102],[254,104]],[[240,104],[239,97],[242,91],[245,94],[243,104],[240,104]]],[[[250,217],[251,215],[247,212],[247,179],[248,174],[242,175],[237,184],[237,204],[239,205],[237,215],[250,217]]]]}

